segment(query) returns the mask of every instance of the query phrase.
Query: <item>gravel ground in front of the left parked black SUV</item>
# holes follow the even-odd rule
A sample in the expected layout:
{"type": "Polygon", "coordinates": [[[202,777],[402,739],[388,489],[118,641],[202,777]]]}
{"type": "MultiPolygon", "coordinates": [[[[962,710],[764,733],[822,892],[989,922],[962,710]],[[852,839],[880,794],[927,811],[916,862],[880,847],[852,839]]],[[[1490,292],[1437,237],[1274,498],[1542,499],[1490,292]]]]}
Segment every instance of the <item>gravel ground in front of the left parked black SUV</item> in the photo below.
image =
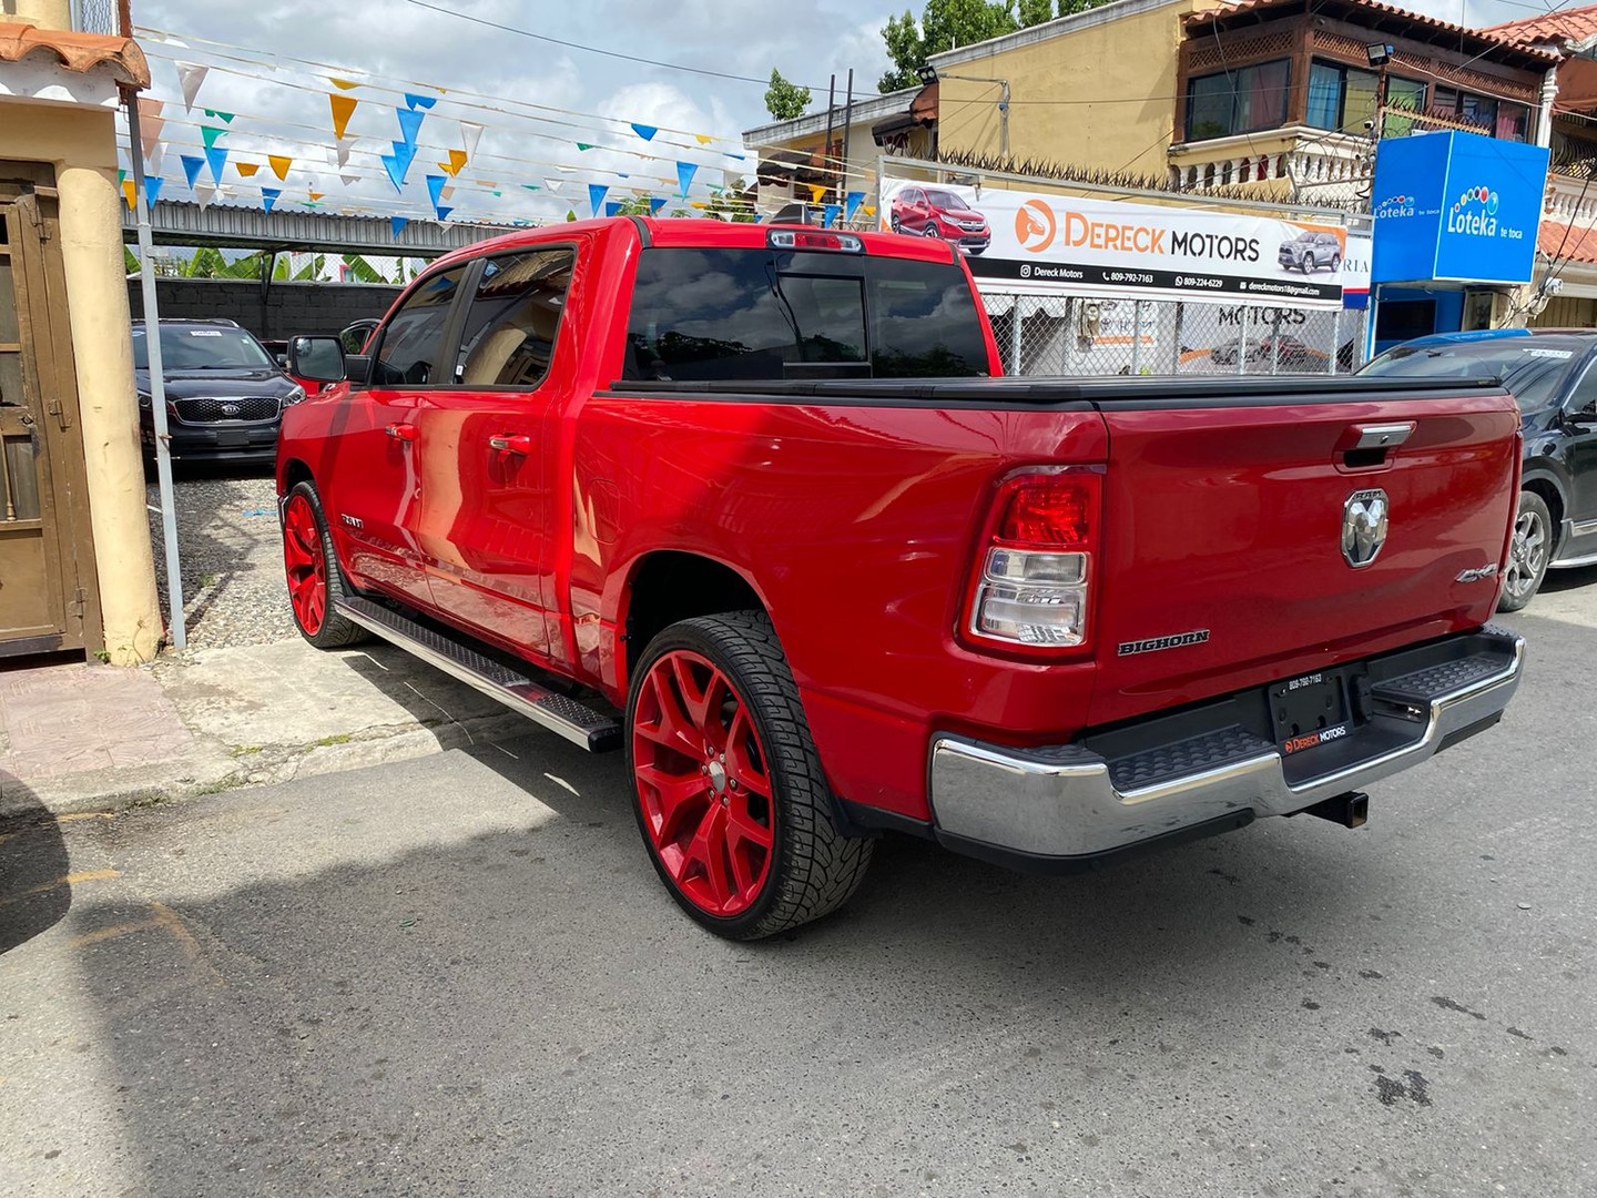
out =
{"type": "MultiPolygon", "coordinates": [[[[188,647],[262,645],[299,636],[283,583],[283,535],[270,473],[224,478],[187,471],[176,479],[174,492],[188,647]]],[[[161,497],[153,482],[145,495],[164,617],[161,497]]]]}

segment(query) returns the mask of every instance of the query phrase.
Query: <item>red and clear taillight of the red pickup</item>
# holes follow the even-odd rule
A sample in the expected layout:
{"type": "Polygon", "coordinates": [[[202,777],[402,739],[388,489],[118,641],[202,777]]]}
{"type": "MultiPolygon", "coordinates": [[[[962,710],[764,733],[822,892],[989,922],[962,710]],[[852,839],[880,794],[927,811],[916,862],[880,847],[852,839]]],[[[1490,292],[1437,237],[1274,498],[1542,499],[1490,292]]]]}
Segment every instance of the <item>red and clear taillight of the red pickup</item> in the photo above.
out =
{"type": "Polygon", "coordinates": [[[971,637],[1033,650],[1086,644],[1102,495],[1089,470],[1020,474],[998,489],[965,621],[971,637]]]}

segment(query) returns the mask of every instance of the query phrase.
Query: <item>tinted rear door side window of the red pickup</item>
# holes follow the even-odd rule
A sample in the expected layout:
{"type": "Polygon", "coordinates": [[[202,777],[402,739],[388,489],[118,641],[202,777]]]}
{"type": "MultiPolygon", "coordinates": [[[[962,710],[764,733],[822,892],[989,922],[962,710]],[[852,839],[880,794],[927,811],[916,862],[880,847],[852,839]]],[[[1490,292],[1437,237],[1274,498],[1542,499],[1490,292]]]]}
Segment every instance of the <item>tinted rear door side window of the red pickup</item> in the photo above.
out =
{"type": "Polygon", "coordinates": [[[466,308],[455,382],[537,387],[554,356],[575,251],[538,249],[490,257],[466,308]]]}

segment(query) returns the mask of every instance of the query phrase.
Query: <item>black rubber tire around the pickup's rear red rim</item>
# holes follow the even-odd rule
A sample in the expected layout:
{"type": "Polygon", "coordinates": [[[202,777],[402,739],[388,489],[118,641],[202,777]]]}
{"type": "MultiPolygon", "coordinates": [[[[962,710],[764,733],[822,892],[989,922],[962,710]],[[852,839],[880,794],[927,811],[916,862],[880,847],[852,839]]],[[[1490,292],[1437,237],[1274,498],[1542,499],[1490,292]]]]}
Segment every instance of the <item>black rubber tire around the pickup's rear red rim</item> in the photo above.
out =
{"type": "Polygon", "coordinates": [[[875,842],[840,835],[832,823],[832,794],[821,770],[798,688],[776,629],[763,612],[727,612],[682,620],[656,636],[632,672],[626,703],[626,765],[632,778],[632,813],[648,859],[666,890],[696,923],[735,941],[752,941],[830,914],[859,888],[875,842]],[[771,783],[773,843],[763,885],[736,915],[717,917],[684,895],[655,848],[637,783],[639,696],[661,657],[688,650],[706,658],[733,685],[752,717],[771,783]]]}

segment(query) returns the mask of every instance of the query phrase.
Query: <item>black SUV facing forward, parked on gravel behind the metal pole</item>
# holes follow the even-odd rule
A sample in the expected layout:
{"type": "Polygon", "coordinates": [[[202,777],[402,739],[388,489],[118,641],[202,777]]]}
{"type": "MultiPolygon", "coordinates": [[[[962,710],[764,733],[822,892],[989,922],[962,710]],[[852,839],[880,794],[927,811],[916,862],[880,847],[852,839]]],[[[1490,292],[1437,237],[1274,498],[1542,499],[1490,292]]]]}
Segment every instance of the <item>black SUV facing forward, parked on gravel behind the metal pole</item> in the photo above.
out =
{"type": "MultiPolygon", "coordinates": [[[[150,353],[144,321],[133,323],[139,441],[155,458],[150,353]]],[[[276,359],[233,321],[161,321],[161,377],[172,460],[273,462],[283,409],[305,398],[276,359]]]]}

